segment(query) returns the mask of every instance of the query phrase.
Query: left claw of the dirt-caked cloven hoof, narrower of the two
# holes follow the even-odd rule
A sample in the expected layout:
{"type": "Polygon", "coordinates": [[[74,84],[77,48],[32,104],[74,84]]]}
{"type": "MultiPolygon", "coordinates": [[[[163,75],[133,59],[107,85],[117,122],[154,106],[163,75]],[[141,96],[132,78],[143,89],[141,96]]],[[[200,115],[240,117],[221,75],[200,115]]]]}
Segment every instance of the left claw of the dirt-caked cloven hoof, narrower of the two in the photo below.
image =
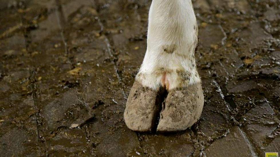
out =
{"type": "Polygon", "coordinates": [[[159,90],[143,87],[135,81],[124,112],[125,123],[134,131],[151,131],[155,123],[155,115],[159,112],[159,90]]]}

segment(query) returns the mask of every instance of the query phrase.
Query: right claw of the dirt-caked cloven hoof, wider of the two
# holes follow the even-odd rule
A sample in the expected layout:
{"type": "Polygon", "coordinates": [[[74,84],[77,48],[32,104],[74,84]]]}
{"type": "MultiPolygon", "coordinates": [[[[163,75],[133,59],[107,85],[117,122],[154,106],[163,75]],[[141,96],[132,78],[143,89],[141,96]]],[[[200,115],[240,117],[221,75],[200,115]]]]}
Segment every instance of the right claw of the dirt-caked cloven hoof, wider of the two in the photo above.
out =
{"type": "Polygon", "coordinates": [[[170,90],[162,104],[157,131],[181,131],[192,126],[199,118],[204,105],[201,83],[170,90]]]}

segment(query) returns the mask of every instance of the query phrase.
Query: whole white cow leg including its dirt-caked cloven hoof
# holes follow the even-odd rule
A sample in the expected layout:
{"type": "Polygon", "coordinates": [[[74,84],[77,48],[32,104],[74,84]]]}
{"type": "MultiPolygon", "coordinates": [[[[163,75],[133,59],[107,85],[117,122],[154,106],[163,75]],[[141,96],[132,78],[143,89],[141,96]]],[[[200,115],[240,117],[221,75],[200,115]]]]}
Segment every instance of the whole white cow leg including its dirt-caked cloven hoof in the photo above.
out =
{"type": "Polygon", "coordinates": [[[157,131],[185,130],[199,119],[204,96],[194,57],[197,34],[191,0],[152,1],[147,51],[124,113],[130,129],[151,130],[159,109],[157,131]],[[168,95],[161,102],[163,90],[168,95]]]}

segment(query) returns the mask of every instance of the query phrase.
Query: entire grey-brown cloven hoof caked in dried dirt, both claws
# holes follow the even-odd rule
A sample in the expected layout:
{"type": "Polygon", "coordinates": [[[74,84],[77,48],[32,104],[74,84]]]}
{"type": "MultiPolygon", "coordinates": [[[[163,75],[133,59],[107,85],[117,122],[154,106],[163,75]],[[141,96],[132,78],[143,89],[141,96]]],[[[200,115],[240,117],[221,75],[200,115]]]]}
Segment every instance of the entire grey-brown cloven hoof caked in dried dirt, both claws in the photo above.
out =
{"type": "Polygon", "coordinates": [[[199,119],[204,104],[200,82],[186,88],[170,90],[167,97],[164,96],[165,89],[152,90],[135,81],[124,112],[128,128],[141,132],[181,131],[199,119]]]}

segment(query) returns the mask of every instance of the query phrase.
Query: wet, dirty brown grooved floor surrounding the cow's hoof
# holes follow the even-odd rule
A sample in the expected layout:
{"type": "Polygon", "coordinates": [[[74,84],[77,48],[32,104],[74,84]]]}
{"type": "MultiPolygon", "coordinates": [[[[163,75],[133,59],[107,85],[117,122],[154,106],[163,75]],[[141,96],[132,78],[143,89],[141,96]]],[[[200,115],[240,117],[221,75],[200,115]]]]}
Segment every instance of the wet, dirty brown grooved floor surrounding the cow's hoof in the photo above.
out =
{"type": "Polygon", "coordinates": [[[169,134],[123,120],[150,4],[1,0],[1,157],[280,153],[280,1],[193,0],[204,109],[169,134]]]}

